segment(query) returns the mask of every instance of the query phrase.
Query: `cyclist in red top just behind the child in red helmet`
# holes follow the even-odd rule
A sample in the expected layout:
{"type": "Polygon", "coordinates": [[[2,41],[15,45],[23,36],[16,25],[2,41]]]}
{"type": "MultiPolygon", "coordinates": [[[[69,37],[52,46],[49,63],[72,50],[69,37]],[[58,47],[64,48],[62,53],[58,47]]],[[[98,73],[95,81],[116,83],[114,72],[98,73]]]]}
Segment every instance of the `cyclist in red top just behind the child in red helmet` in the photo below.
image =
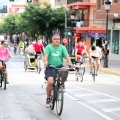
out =
{"type": "Polygon", "coordinates": [[[77,55],[80,55],[80,56],[83,55],[83,51],[84,51],[84,53],[86,53],[86,55],[88,56],[88,53],[87,53],[84,45],[82,44],[81,41],[79,41],[78,44],[76,45],[76,50],[75,50],[76,60],[77,60],[77,55]]]}

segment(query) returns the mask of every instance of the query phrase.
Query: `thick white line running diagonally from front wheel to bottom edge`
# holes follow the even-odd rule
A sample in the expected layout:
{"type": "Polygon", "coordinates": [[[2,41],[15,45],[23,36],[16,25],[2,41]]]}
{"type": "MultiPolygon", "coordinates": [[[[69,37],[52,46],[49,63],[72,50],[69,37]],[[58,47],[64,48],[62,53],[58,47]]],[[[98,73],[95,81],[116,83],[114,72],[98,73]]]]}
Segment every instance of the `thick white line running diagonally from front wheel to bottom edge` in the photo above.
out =
{"type": "MultiPolygon", "coordinates": [[[[69,95],[69,94],[67,94],[67,93],[65,93],[65,95],[66,95],[67,97],[71,98],[72,100],[76,100],[75,97],[73,97],[73,96],[71,96],[71,95],[69,95]]],[[[86,107],[86,108],[94,111],[96,114],[98,114],[99,116],[101,116],[102,118],[104,118],[104,119],[106,119],[106,120],[114,120],[114,119],[108,117],[107,115],[101,113],[100,111],[94,109],[93,107],[87,105],[86,103],[83,103],[83,102],[80,102],[80,101],[76,101],[76,102],[79,103],[79,104],[81,104],[82,106],[84,106],[84,107],[86,107]]]]}

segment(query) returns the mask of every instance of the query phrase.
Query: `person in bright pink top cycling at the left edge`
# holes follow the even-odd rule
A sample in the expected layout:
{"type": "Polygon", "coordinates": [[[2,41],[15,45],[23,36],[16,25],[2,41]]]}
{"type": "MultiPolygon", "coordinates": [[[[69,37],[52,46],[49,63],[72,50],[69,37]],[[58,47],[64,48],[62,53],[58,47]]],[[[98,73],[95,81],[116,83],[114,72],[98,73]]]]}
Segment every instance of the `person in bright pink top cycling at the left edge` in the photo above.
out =
{"type": "MultiPolygon", "coordinates": [[[[11,57],[10,51],[8,48],[6,48],[6,43],[5,41],[1,42],[1,47],[0,47],[0,60],[3,60],[7,63],[8,57],[11,57]]],[[[0,70],[2,70],[2,62],[0,61],[0,70]]],[[[6,66],[6,83],[9,84],[8,82],[8,69],[6,66]]]]}

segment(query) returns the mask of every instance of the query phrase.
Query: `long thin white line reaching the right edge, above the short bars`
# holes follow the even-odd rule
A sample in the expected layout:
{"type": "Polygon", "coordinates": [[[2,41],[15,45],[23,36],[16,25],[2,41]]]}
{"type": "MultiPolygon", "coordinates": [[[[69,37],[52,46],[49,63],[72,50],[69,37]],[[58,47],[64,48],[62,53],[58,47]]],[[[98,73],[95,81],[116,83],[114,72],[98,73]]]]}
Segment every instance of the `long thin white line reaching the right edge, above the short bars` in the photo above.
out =
{"type": "Polygon", "coordinates": [[[93,92],[93,93],[96,93],[96,94],[99,94],[99,95],[107,96],[107,97],[110,97],[110,98],[113,98],[113,99],[116,99],[116,100],[120,101],[120,98],[114,97],[112,95],[108,95],[108,94],[105,94],[105,93],[97,92],[97,91],[90,90],[90,89],[83,88],[83,87],[77,87],[77,86],[74,86],[74,85],[69,85],[69,86],[75,87],[77,89],[83,89],[83,90],[86,90],[86,91],[89,91],[89,92],[93,92]]]}

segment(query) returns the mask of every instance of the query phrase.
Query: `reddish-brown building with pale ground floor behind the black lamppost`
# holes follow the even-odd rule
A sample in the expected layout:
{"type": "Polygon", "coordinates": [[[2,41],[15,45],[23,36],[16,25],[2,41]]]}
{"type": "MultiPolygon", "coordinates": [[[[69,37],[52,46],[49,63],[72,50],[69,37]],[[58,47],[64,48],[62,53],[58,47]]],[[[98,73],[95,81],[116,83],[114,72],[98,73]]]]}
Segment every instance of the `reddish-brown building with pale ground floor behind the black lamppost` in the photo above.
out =
{"type": "MultiPolygon", "coordinates": [[[[120,0],[110,0],[111,8],[108,13],[108,44],[109,59],[120,60],[120,0]]],[[[106,19],[104,0],[97,1],[96,18],[106,19]]]]}

